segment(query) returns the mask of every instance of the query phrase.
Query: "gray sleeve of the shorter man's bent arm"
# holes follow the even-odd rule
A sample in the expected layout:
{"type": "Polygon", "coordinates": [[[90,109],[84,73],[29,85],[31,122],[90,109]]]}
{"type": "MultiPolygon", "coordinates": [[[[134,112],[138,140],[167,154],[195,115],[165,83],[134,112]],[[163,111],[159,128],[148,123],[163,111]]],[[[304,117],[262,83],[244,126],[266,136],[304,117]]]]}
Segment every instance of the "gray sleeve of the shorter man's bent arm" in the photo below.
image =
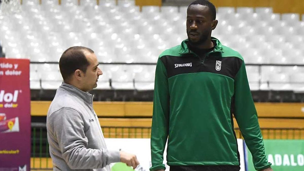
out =
{"type": "Polygon", "coordinates": [[[62,157],[71,169],[103,168],[120,161],[119,151],[87,148],[84,122],[78,111],[64,107],[50,117],[50,129],[57,138],[62,157]]]}

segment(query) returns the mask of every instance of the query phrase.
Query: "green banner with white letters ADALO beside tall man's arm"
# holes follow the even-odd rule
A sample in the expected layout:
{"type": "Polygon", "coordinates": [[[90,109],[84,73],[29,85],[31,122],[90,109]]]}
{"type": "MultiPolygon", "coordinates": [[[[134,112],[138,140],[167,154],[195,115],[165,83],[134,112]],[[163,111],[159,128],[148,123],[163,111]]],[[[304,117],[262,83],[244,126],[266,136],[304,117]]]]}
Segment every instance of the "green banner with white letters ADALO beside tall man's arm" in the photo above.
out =
{"type": "MultiPolygon", "coordinates": [[[[274,171],[304,171],[304,140],[264,140],[268,162],[274,171]]],[[[255,171],[248,152],[248,170],[255,171]]]]}

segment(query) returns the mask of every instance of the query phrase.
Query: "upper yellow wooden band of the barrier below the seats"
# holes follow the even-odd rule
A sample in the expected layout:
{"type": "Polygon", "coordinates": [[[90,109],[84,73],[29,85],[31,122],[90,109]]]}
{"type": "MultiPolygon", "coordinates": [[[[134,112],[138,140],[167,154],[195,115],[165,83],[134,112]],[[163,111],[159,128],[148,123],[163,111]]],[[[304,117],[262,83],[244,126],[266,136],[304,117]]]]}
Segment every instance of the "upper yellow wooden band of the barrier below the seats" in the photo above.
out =
{"type": "MultiPolygon", "coordinates": [[[[32,116],[46,116],[50,101],[31,101],[32,116]]],[[[304,118],[304,103],[255,103],[258,117],[304,118]]],[[[152,117],[152,102],[94,102],[98,117],[152,117]]]]}

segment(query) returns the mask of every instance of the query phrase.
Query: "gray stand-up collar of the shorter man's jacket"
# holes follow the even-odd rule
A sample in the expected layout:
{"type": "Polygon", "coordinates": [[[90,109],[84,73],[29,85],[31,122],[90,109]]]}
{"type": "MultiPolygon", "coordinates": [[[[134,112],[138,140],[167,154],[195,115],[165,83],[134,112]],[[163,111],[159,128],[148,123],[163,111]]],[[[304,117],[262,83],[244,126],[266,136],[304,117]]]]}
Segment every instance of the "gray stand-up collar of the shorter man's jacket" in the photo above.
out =
{"type": "Polygon", "coordinates": [[[70,94],[82,99],[88,105],[93,105],[93,95],[88,92],[84,92],[73,85],[62,82],[62,84],[59,86],[59,90],[67,91],[70,94]]]}

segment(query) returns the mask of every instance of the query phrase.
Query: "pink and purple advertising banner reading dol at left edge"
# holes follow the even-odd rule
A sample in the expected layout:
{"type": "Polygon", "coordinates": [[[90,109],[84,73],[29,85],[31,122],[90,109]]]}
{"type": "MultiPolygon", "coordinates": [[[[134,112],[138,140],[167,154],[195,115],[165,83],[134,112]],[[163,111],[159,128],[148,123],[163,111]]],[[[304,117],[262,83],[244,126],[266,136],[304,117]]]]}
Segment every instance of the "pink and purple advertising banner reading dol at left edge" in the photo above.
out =
{"type": "Polygon", "coordinates": [[[30,170],[29,60],[0,58],[0,171],[30,170]]]}

